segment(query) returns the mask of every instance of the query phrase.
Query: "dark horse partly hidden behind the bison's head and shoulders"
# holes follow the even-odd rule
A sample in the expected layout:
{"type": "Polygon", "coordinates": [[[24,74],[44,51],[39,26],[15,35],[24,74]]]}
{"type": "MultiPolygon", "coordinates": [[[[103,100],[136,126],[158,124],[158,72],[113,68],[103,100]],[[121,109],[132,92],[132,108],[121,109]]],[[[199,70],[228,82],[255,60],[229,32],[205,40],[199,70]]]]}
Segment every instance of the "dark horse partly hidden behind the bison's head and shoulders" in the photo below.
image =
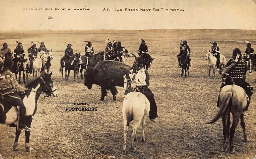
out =
{"type": "MultiPolygon", "coordinates": [[[[81,56],[82,58],[82,61],[83,61],[83,64],[79,64],[77,66],[77,78],[78,78],[78,75],[79,75],[79,68],[81,66],[81,69],[80,69],[80,75],[81,75],[81,79],[83,79],[83,69],[86,67],[85,64],[86,64],[86,57],[84,55],[81,56]]],[[[90,61],[88,63],[88,66],[90,67],[94,67],[99,61],[103,61],[105,60],[105,53],[104,52],[99,52],[97,54],[94,54],[90,57],[90,61]]]]}

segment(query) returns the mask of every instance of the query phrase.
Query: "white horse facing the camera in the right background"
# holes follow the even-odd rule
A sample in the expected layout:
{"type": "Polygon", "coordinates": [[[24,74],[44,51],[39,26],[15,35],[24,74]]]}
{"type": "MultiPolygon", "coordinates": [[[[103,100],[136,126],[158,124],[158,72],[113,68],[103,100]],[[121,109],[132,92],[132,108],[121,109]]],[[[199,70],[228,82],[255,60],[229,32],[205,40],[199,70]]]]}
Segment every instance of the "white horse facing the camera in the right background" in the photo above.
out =
{"type": "MultiPolygon", "coordinates": [[[[209,76],[208,78],[211,77],[211,68],[213,69],[213,79],[215,79],[215,65],[217,62],[217,58],[215,56],[212,55],[210,50],[205,50],[205,60],[208,60],[208,66],[209,66],[209,76]]],[[[220,68],[221,66],[225,66],[226,65],[226,58],[223,54],[220,54],[220,68]]]]}

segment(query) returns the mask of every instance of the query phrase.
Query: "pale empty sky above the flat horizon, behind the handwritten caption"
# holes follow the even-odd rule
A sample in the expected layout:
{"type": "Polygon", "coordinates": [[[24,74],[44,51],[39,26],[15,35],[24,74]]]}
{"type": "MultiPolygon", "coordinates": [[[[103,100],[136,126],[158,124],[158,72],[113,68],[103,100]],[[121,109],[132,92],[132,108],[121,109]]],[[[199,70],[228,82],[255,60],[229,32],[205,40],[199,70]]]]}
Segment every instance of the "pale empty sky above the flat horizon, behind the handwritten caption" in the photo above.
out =
{"type": "Polygon", "coordinates": [[[0,20],[0,31],[11,29],[255,30],[256,5],[253,0],[0,0],[0,20]],[[34,10],[24,10],[29,8],[34,10]],[[37,8],[40,10],[35,10],[37,8]],[[55,8],[60,10],[55,11],[55,8]],[[68,11],[68,8],[71,10],[68,11]],[[89,11],[74,11],[74,8],[86,8],[89,11]],[[123,11],[103,11],[104,8],[123,11]],[[125,8],[139,9],[139,11],[125,11],[125,8]],[[140,11],[140,8],[150,11],[140,11]],[[153,8],[159,11],[153,11],[153,8]],[[161,8],[168,11],[161,11],[161,8]],[[184,11],[170,11],[170,9],[184,11]],[[48,16],[53,19],[48,19],[48,16]]]}

